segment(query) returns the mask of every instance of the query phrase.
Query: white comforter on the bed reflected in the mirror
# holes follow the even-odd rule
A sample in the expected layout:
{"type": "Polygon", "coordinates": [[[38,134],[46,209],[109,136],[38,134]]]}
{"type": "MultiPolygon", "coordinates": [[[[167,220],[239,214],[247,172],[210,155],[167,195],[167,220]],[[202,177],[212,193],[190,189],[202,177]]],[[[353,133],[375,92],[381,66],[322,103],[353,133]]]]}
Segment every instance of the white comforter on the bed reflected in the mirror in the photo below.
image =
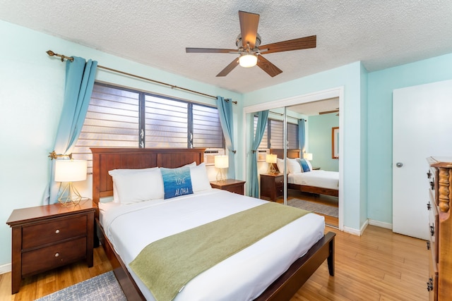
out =
{"type": "Polygon", "coordinates": [[[306,173],[289,173],[287,175],[287,183],[338,190],[339,173],[337,171],[309,171],[306,173]]]}

